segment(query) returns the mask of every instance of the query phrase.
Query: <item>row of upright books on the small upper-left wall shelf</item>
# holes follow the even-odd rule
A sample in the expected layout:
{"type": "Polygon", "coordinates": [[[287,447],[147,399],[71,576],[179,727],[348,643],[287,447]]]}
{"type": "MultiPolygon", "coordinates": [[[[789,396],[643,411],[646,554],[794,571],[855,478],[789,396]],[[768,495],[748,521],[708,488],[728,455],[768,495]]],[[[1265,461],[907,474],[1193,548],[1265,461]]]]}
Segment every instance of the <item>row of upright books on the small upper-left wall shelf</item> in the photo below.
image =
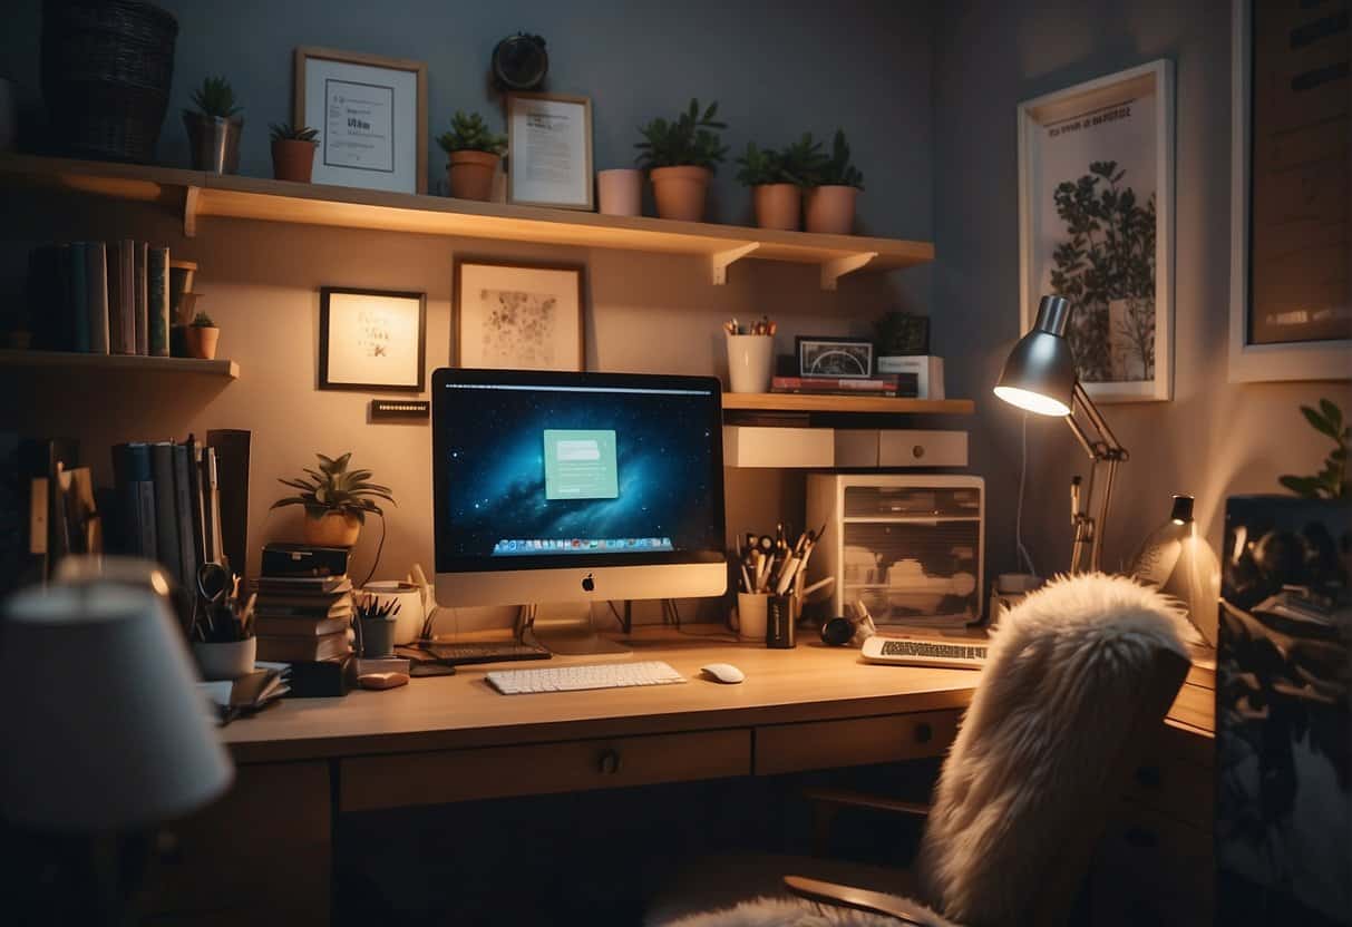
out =
{"type": "Polygon", "coordinates": [[[169,249],[135,242],[45,245],[28,255],[34,347],[169,357],[169,249]]]}

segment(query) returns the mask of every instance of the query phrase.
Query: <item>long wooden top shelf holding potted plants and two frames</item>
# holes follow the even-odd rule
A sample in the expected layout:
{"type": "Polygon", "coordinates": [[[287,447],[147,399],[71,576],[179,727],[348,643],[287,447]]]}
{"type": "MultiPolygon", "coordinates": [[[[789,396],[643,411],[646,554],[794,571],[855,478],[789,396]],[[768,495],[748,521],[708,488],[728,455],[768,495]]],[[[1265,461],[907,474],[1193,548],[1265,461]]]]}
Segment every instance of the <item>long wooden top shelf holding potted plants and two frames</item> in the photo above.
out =
{"type": "Polygon", "coordinates": [[[188,236],[197,232],[201,218],[228,216],[341,228],[690,254],[704,258],[710,280],[715,285],[727,282],[727,268],[744,258],[817,265],[823,289],[836,289],[842,276],[857,270],[896,270],[934,259],[934,246],[929,242],[606,216],[572,209],[293,184],[172,168],[4,155],[0,157],[0,176],[9,182],[59,186],[181,209],[184,234],[188,236]]]}

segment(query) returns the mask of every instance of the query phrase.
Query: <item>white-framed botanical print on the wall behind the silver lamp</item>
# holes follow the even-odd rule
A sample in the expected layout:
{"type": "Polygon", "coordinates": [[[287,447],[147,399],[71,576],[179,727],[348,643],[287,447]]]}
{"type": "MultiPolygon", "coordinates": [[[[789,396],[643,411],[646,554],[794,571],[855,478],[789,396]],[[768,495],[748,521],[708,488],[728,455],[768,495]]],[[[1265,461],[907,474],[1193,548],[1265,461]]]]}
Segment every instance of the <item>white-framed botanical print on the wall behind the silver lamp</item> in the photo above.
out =
{"type": "Polygon", "coordinates": [[[1021,331],[1044,293],[1095,401],[1174,396],[1174,65],[1018,107],[1021,331]]]}

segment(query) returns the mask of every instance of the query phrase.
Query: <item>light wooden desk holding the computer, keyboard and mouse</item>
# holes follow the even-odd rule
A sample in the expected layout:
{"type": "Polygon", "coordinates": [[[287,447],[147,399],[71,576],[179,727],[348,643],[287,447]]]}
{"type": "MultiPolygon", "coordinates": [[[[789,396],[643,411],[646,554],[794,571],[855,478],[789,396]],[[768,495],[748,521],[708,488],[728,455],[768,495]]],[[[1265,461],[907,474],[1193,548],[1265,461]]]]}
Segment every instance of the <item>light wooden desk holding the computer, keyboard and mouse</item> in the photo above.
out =
{"type": "MultiPolygon", "coordinates": [[[[714,627],[645,627],[629,642],[633,657],[553,662],[662,659],[690,682],[502,696],[484,676],[504,665],[466,666],[388,692],[283,701],[230,724],[222,739],[239,784],[184,826],[154,908],[193,923],[324,923],[334,816],[349,811],[936,757],[979,680],[869,665],[810,641],[767,650],[714,627]],[[740,666],[746,681],[704,680],[711,662],[740,666]],[[258,839],[242,843],[245,828],[258,839]],[[239,866],[220,859],[235,846],[239,866]]],[[[1211,678],[1205,668],[1188,677],[1161,755],[1209,757],[1211,678]]]]}

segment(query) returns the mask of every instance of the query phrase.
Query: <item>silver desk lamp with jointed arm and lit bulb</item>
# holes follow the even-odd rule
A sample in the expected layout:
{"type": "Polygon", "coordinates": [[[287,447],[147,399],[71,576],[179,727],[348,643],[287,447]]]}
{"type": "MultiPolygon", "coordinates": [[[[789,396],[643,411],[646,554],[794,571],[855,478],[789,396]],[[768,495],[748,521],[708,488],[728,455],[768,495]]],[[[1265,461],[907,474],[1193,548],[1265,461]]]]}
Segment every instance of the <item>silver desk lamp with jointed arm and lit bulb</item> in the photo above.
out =
{"type": "Polygon", "coordinates": [[[1044,296],[1037,307],[1037,322],[1010,351],[1005,370],[995,385],[995,395],[1011,405],[1038,415],[1065,419],[1075,439],[1090,457],[1088,488],[1082,493],[1080,477],[1071,480],[1071,526],[1075,545],[1071,549],[1071,573],[1101,569],[1103,528],[1113,500],[1113,480],[1117,468],[1126,461],[1126,449],[1117,442],[1098,407],[1075,376],[1075,353],[1065,338],[1071,320],[1071,304],[1061,296],[1044,296]],[[1098,434],[1091,438],[1076,419],[1082,412],[1098,434]],[[1102,493],[1099,465],[1103,465],[1102,493]]]}

